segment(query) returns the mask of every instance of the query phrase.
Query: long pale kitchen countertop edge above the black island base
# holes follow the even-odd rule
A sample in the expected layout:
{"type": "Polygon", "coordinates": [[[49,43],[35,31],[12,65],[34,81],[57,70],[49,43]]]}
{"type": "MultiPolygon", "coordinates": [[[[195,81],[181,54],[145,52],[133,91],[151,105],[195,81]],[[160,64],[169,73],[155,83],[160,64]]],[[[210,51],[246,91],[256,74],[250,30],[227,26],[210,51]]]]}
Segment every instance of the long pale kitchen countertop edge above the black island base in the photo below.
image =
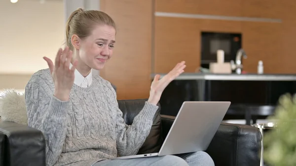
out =
{"type": "MultiPolygon", "coordinates": [[[[151,74],[154,78],[155,74],[151,74]]],[[[162,78],[165,74],[160,74],[162,78]]],[[[295,74],[213,74],[183,73],[175,80],[228,80],[228,81],[296,81],[295,74]]]]}

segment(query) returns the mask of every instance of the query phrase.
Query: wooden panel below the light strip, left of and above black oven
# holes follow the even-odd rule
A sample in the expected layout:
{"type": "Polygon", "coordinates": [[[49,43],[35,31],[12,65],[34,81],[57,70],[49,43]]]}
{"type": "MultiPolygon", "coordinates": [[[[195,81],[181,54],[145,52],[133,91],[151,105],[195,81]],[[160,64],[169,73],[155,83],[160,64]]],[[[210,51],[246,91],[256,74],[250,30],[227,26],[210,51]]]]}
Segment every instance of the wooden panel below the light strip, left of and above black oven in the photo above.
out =
{"type": "Polygon", "coordinates": [[[185,18],[155,18],[154,72],[169,72],[186,61],[185,72],[200,66],[201,32],[241,32],[241,22],[185,18]]]}

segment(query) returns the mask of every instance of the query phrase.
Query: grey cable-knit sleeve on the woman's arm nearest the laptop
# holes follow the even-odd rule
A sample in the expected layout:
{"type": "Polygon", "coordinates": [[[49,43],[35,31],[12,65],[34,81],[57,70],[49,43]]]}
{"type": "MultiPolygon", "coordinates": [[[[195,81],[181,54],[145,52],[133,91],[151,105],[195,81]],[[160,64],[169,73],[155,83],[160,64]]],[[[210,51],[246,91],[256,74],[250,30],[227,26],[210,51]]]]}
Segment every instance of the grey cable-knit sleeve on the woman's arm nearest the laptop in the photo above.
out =
{"type": "Polygon", "coordinates": [[[143,109],[134,118],[133,124],[126,125],[117,103],[116,144],[119,156],[130,156],[138,153],[150,133],[153,117],[157,109],[157,105],[146,101],[143,109]]]}

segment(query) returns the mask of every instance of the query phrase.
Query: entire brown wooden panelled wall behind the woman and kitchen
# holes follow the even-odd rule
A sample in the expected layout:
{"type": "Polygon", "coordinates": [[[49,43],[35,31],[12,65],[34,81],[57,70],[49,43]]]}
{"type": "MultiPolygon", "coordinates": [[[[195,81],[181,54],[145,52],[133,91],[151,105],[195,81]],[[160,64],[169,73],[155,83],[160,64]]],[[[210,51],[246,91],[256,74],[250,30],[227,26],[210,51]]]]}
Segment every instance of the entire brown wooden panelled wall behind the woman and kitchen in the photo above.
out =
{"type": "Polygon", "coordinates": [[[150,74],[166,73],[179,61],[193,72],[200,64],[201,31],[242,33],[248,72],[256,72],[262,60],[266,73],[296,73],[295,0],[101,0],[101,8],[118,26],[113,58],[101,71],[117,86],[118,99],[147,98],[150,74]],[[155,11],[283,22],[154,18],[155,11]]]}

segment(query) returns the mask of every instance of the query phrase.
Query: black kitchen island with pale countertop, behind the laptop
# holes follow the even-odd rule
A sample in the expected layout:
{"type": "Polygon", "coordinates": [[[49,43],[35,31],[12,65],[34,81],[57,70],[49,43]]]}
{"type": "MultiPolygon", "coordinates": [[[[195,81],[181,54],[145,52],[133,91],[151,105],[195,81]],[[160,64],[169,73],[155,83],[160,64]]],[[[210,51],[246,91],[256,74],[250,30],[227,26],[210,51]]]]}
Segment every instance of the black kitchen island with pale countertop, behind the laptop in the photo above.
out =
{"type": "Polygon", "coordinates": [[[184,101],[231,101],[224,120],[251,125],[273,115],[286,93],[296,93],[296,75],[184,73],[167,86],[159,102],[161,114],[176,116],[184,101]]]}

